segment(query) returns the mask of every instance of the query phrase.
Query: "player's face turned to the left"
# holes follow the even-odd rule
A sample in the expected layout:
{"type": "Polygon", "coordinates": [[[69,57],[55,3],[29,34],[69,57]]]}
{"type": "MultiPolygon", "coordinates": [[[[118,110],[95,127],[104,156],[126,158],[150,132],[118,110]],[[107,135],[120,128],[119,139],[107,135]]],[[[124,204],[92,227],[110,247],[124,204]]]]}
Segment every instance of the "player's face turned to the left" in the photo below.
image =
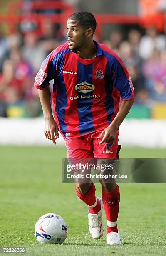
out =
{"type": "Polygon", "coordinates": [[[67,30],[69,48],[71,50],[80,49],[86,41],[86,36],[84,29],[79,25],[79,21],[67,20],[67,30]]]}

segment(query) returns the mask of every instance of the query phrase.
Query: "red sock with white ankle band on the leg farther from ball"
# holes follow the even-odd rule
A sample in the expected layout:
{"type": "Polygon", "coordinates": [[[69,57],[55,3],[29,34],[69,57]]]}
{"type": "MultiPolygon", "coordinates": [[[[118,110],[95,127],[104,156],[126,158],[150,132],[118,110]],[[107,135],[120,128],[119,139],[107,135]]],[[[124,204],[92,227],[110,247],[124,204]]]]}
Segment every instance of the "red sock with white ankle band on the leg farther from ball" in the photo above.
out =
{"type": "Polygon", "coordinates": [[[119,186],[117,185],[116,189],[111,192],[107,192],[102,188],[102,201],[107,219],[106,233],[108,234],[111,231],[118,233],[116,221],[118,219],[120,201],[119,186]]]}

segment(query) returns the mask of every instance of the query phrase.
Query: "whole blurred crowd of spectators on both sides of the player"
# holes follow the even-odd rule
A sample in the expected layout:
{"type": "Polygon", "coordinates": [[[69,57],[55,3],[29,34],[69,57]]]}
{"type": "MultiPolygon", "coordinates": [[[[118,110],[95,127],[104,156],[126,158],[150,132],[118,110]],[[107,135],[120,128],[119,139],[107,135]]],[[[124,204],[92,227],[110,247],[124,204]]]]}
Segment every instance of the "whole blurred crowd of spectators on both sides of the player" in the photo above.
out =
{"type": "MultiPolygon", "coordinates": [[[[0,31],[0,116],[8,116],[11,105],[22,105],[29,117],[40,115],[34,78],[45,57],[66,41],[51,20],[44,20],[40,34],[35,30],[17,31],[8,36],[0,31]]],[[[95,39],[95,38],[94,38],[95,39]]],[[[97,38],[99,41],[100,38],[97,38]]],[[[113,31],[103,41],[124,61],[134,84],[135,104],[166,102],[166,36],[155,28],[142,35],[131,29],[124,40],[121,31],[113,31]]]]}

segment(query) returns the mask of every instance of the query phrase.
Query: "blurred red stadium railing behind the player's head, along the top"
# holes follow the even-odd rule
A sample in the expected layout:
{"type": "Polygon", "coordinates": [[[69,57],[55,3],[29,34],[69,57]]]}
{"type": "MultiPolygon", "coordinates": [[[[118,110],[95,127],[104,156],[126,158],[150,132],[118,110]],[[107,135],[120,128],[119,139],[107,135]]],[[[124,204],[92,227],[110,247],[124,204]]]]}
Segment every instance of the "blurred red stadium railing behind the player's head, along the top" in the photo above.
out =
{"type": "MultiPolygon", "coordinates": [[[[50,18],[53,23],[60,23],[62,32],[66,28],[67,18],[75,12],[74,5],[69,5],[64,1],[31,1],[27,6],[22,1],[11,3],[5,15],[0,15],[0,23],[8,23],[10,30],[15,28],[16,23],[22,20],[36,21],[40,28],[40,23],[45,18],[50,18]],[[35,13],[35,10],[57,9],[60,13],[35,13]]],[[[153,16],[153,19],[146,20],[146,17],[140,17],[135,14],[94,14],[97,20],[97,35],[102,38],[102,26],[109,23],[139,24],[141,26],[155,26],[159,22],[166,23],[166,16],[159,13],[153,16]]]]}

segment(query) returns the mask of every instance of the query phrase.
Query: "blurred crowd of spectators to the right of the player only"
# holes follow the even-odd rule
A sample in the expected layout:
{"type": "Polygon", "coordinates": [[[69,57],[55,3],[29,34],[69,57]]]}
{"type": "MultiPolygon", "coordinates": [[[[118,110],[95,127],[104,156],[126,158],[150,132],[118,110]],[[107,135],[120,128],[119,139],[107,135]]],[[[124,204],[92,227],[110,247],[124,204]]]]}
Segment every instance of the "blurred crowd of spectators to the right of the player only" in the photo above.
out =
{"type": "Polygon", "coordinates": [[[131,29],[127,40],[120,31],[110,34],[105,40],[123,60],[131,75],[135,90],[135,104],[152,105],[166,102],[166,36],[158,34],[155,28],[146,33],[131,29]]]}

